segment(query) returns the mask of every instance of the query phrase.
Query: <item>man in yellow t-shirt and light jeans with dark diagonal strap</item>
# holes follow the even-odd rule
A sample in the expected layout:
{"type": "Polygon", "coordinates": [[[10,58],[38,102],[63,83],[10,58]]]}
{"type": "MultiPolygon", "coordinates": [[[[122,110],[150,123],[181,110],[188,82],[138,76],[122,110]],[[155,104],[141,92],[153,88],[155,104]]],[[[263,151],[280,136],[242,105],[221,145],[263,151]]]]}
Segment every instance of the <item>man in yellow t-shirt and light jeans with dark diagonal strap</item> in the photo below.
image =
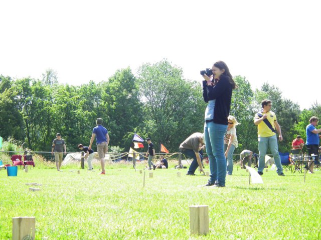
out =
{"type": "Polygon", "coordinates": [[[259,163],[257,172],[263,175],[265,165],[265,155],[267,147],[270,148],[277,167],[277,174],[284,176],[283,167],[278,150],[276,131],[279,134],[279,140],[282,141],[281,127],[277,122],[276,115],[271,111],[272,101],[264,99],[262,102],[262,110],[257,112],[254,117],[254,124],[257,125],[258,141],[259,141],[259,163]]]}

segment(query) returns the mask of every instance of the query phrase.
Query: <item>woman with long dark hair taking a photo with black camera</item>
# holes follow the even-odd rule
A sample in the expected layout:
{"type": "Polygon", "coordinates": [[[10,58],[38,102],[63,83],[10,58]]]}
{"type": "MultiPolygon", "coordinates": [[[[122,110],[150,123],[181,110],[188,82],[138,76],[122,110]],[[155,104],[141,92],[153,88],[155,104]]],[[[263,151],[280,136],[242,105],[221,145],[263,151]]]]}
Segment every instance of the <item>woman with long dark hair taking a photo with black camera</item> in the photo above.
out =
{"type": "Polygon", "coordinates": [[[211,171],[210,179],[204,186],[224,187],[226,178],[224,134],[228,125],[232,90],[236,84],[224,61],[215,62],[212,72],[202,76],[203,98],[208,102],[205,110],[204,135],[211,171]]]}

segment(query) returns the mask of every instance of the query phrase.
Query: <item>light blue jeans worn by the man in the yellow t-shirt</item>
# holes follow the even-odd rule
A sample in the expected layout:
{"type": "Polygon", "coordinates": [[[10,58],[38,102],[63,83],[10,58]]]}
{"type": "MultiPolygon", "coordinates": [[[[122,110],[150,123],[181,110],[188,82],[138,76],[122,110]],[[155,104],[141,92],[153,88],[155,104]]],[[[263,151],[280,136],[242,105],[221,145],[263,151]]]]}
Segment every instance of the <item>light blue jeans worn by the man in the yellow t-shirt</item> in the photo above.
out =
{"type": "Polygon", "coordinates": [[[283,172],[283,167],[281,164],[281,159],[279,155],[279,148],[277,144],[276,135],[273,136],[261,136],[259,139],[259,165],[257,167],[257,171],[263,172],[265,166],[265,155],[267,147],[270,148],[272,155],[274,157],[274,162],[277,167],[277,174],[281,174],[283,172]]]}

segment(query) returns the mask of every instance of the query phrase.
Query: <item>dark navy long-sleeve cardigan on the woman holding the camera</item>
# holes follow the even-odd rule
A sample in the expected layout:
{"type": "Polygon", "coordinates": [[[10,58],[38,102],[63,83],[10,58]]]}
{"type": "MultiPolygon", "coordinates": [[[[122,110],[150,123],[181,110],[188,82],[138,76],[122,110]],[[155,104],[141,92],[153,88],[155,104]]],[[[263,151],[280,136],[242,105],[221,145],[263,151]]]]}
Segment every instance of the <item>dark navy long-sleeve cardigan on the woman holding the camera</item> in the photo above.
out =
{"type": "Polygon", "coordinates": [[[227,117],[230,114],[232,84],[229,77],[221,75],[220,80],[215,86],[208,86],[206,81],[203,81],[203,98],[205,102],[209,100],[215,101],[213,122],[227,125],[227,117]]]}

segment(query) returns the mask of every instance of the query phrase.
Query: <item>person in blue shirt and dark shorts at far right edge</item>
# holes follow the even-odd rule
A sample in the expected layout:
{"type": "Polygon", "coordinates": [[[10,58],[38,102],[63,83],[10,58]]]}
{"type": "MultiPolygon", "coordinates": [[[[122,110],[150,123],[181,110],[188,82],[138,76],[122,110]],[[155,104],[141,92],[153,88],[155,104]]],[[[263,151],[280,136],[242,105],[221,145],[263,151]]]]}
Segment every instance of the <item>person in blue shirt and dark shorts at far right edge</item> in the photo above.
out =
{"type": "Polygon", "coordinates": [[[314,161],[309,162],[308,167],[310,172],[313,173],[314,162],[318,163],[318,147],[319,147],[319,135],[318,133],[321,132],[320,129],[316,129],[316,125],[318,122],[318,118],[316,116],[312,116],[310,118],[310,124],[306,126],[306,142],[305,146],[308,150],[309,155],[314,154],[314,161]]]}

